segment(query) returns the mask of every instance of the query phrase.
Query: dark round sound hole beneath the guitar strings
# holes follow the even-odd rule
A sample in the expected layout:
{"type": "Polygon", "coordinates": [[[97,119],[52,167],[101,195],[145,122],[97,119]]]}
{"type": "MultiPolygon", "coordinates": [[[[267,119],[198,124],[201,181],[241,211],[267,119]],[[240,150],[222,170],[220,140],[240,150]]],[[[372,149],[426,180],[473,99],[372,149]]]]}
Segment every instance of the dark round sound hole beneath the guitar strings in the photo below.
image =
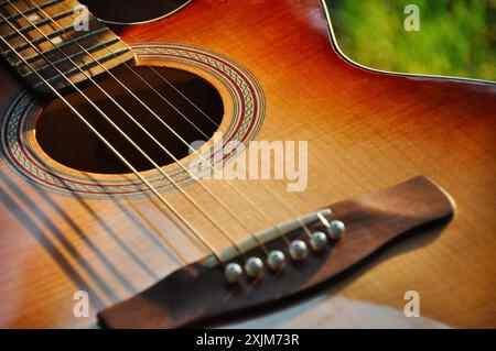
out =
{"type": "MultiPolygon", "coordinates": [[[[188,154],[188,145],[192,142],[206,140],[214,134],[224,116],[223,101],[214,86],[202,77],[181,69],[154,67],[160,76],[149,67],[141,66],[133,69],[139,77],[122,66],[117,67],[112,73],[159,118],[147,110],[132,94],[126,91],[108,74],[98,76],[97,83],[177,160],[188,154]],[[160,92],[160,96],[140,77],[160,92]],[[174,90],[164,78],[191,102],[174,90]],[[187,144],[179,140],[164,124],[181,135],[187,144]]],[[[80,89],[155,163],[164,166],[174,162],[95,85],[87,84],[80,89]]],[[[80,94],[69,91],[64,98],[138,171],[154,168],[80,94]]],[[[35,123],[35,135],[43,151],[67,167],[100,174],[130,173],[130,169],[61,99],[50,101],[42,110],[35,123]]]]}

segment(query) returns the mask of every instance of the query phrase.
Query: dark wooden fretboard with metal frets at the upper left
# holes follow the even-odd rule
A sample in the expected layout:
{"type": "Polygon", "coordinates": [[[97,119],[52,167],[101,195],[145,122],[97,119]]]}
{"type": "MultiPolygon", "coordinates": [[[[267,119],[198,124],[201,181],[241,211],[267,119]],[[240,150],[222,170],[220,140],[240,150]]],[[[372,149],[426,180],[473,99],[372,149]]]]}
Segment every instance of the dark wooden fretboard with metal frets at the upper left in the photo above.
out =
{"type": "Polygon", "coordinates": [[[60,90],[133,59],[129,47],[77,1],[0,0],[0,35],[12,47],[1,41],[1,55],[40,92],[52,91],[46,83],[60,90]]]}

